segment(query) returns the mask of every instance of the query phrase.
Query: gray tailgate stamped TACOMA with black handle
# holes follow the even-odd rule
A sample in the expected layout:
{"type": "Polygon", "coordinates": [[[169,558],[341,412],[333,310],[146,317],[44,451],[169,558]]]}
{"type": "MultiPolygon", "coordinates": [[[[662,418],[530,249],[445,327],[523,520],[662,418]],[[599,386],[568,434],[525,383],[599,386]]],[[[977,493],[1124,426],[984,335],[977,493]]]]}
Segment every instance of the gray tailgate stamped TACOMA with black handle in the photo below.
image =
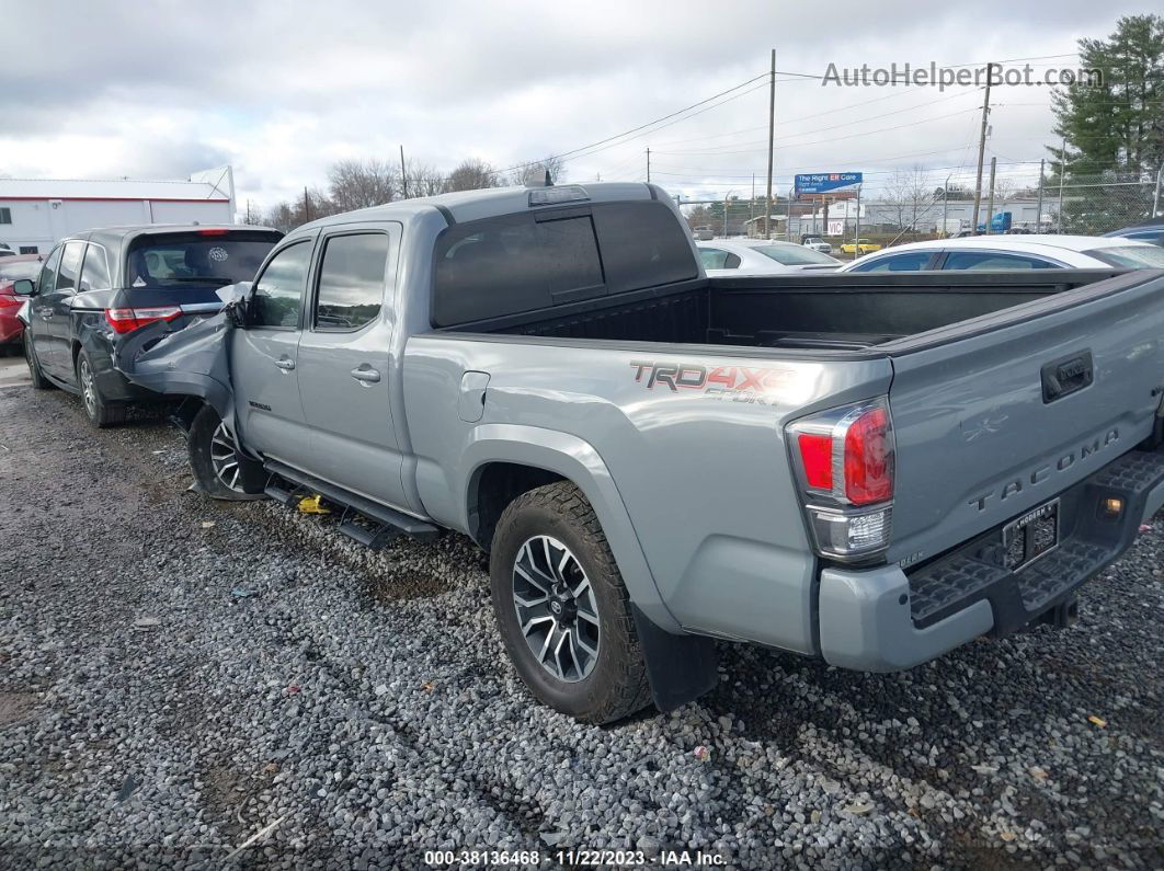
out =
{"type": "Polygon", "coordinates": [[[1042,505],[1151,434],[1164,273],[1079,287],[908,341],[893,356],[890,562],[1042,505]]]}

